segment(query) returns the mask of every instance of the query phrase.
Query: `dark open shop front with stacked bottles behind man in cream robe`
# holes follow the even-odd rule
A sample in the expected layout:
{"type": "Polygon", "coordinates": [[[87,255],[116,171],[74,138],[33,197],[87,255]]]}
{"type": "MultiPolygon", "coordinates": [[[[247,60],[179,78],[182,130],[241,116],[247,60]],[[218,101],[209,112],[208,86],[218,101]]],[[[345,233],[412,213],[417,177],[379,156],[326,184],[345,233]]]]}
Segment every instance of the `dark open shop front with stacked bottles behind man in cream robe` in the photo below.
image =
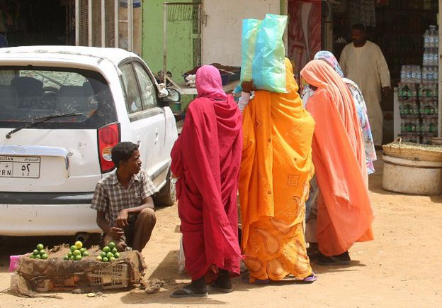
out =
{"type": "Polygon", "coordinates": [[[363,23],[368,40],[380,47],[387,60],[392,87],[396,90],[394,95],[384,97],[381,103],[384,143],[397,136],[402,136],[404,141],[429,143],[432,137],[440,136],[441,127],[441,116],[438,116],[439,51],[436,40],[439,2],[285,1],[290,16],[288,55],[299,70],[321,49],[331,50],[339,59],[345,45],[351,43],[351,26],[363,23]],[[430,44],[424,45],[425,33],[427,40],[431,37],[430,44]],[[407,76],[407,73],[412,76],[407,76]],[[404,93],[404,82],[417,84],[417,88],[408,85],[412,89],[411,94],[404,93]],[[405,100],[413,101],[412,114],[408,114],[408,107],[402,104],[405,100]]]}

